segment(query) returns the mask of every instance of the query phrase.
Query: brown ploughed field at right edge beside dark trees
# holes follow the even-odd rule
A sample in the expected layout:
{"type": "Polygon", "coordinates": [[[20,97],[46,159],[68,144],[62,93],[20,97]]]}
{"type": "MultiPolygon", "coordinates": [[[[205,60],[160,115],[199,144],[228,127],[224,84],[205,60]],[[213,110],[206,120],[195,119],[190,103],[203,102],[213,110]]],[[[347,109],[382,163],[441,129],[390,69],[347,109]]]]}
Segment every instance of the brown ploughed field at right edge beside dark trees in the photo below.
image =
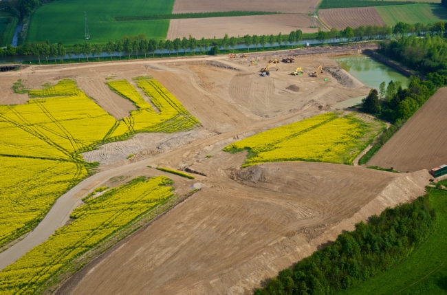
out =
{"type": "Polygon", "coordinates": [[[447,164],[446,98],[447,88],[439,89],[368,165],[413,172],[447,164]]]}

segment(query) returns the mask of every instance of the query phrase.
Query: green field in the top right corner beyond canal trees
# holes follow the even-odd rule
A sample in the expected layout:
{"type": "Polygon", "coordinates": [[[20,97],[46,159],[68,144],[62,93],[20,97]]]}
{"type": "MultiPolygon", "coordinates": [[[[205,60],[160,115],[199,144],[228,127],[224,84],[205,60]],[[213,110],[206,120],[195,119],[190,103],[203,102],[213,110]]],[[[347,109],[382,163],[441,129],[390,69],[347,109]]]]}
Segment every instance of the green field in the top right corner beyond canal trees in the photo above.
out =
{"type": "Polygon", "coordinates": [[[387,25],[404,23],[435,23],[447,19],[447,8],[441,4],[410,4],[404,6],[376,7],[387,25]]]}

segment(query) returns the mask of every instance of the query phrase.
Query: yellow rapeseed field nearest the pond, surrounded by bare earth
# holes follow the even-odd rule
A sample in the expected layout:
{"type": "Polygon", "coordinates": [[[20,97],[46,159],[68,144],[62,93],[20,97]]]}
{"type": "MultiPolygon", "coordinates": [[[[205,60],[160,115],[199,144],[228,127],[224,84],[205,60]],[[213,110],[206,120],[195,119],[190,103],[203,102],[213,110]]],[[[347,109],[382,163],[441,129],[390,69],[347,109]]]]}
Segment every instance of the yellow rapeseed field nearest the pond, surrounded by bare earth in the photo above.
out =
{"type": "Polygon", "coordinates": [[[307,161],[351,164],[384,124],[355,114],[320,116],[277,127],[226,146],[224,151],[250,151],[243,167],[264,162],[307,161]]]}

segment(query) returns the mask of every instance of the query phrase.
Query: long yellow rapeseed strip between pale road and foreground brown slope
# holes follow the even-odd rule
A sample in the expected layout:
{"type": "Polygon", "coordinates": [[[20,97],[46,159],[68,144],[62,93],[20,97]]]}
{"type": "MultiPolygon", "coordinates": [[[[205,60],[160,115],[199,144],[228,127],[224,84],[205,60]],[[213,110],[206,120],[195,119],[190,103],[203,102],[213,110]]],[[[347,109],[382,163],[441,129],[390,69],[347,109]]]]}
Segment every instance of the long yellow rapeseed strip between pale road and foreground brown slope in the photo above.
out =
{"type": "Polygon", "coordinates": [[[72,223],[0,272],[0,293],[40,293],[45,282],[68,263],[173,197],[168,184],[172,181],[164,176],[138,177],[88,199],[74,210],[72,223]]]}

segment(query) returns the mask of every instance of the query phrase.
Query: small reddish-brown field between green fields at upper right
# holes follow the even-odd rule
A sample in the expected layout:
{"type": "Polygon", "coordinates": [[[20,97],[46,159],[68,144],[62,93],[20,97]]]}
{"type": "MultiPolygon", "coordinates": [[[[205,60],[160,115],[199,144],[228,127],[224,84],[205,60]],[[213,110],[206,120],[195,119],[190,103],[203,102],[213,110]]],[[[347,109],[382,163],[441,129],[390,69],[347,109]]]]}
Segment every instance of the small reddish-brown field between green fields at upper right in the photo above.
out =
{"type": "Polygon", "coordinates": [[[322,9],[318,10],[318,17],[329,28],[338,30],[345,30],[348,26],[357,28],[360,25],[385,25],[373,7],[322,9]]]}

